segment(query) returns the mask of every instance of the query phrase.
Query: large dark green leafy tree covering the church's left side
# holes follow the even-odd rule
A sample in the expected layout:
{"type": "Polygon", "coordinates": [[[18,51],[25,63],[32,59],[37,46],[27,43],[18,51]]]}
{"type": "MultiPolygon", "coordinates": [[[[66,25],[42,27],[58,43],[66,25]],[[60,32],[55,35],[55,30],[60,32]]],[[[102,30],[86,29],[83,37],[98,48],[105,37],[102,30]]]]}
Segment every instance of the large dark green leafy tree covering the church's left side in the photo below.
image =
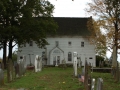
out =
{"type": "Polygon", "coordinates": [[[12,58],[16,44],[34,40],[43,47],[47,43],[46,34],[54,34],[57,28],[53,9],[47,0],[0,0],[0,42],[8,44],[8,59],[12,58]]]}

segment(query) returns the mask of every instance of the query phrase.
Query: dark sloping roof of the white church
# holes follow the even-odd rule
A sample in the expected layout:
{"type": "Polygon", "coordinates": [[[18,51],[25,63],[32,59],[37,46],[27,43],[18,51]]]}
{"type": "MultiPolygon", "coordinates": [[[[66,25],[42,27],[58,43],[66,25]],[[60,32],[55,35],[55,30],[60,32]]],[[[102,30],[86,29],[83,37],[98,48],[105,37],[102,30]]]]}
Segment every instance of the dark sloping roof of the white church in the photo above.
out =
{"type": "Polygon", "coordinates": [[[87,29],[87,21],[89,18],[76,18],[76,17],[54,17],[54,21],[58,24],[56,35],[67,36],[88,36],[90,35],[87,29]]]}

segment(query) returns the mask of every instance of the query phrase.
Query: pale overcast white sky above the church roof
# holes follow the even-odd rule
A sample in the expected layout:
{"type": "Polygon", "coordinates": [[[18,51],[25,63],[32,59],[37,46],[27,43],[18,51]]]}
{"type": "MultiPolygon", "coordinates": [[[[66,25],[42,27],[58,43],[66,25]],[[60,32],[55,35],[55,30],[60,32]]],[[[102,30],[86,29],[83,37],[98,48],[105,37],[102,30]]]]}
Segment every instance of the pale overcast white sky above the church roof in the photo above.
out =
{"type": "MultiPolygon", "coordinates": [[[[54,6],[55,9],[53,11],[54,17],[90,17],[85,12],[86,4],[91,2],[91,0],[48,0],[54,6]]],[[[13,51],[17,48],[14,47],[13,51]]],[[[3,52],[0,51],[0,57],[2,58],[3,52]]],[[[111,53],[107,52],[107,57],[110,57],[111,53]]]]}

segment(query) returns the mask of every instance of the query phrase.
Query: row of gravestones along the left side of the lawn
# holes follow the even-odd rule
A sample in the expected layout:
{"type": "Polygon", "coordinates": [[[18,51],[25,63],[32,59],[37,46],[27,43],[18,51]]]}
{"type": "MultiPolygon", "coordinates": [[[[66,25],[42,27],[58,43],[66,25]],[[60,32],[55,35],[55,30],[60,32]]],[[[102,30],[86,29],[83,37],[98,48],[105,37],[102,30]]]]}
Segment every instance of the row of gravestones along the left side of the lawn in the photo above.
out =
{"type": "MultiPolygon", "coordinates": [[[[20,78],[25,75],[26,72],[26,60],[25,58],[20,58],[17,62],[8,60],[7,62],[7,81],[11,82],[15,78],[20,78]]],[[[42,59],[39,55],[35,57],[35,72],[42,70],[42,59]]],[[[0,86],[4,85],[4,69],[3,64],[0,64],[0,86]]]]}

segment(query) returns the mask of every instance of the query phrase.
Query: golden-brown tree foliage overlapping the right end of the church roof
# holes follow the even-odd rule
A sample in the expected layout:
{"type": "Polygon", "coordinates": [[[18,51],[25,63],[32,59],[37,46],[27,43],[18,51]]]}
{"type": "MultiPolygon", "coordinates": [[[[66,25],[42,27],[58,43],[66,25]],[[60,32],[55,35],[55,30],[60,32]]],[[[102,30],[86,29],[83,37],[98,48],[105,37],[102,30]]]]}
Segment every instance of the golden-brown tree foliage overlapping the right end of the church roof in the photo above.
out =
{"type": "Polygon", "coordinates": [[[100,22],[94,19],[89,19],[87,22],[88,30],[90,31],[90,43],[95,44],[96,55],[105,57],[106,55],[106,37],[100,30],[100,22]]]}

